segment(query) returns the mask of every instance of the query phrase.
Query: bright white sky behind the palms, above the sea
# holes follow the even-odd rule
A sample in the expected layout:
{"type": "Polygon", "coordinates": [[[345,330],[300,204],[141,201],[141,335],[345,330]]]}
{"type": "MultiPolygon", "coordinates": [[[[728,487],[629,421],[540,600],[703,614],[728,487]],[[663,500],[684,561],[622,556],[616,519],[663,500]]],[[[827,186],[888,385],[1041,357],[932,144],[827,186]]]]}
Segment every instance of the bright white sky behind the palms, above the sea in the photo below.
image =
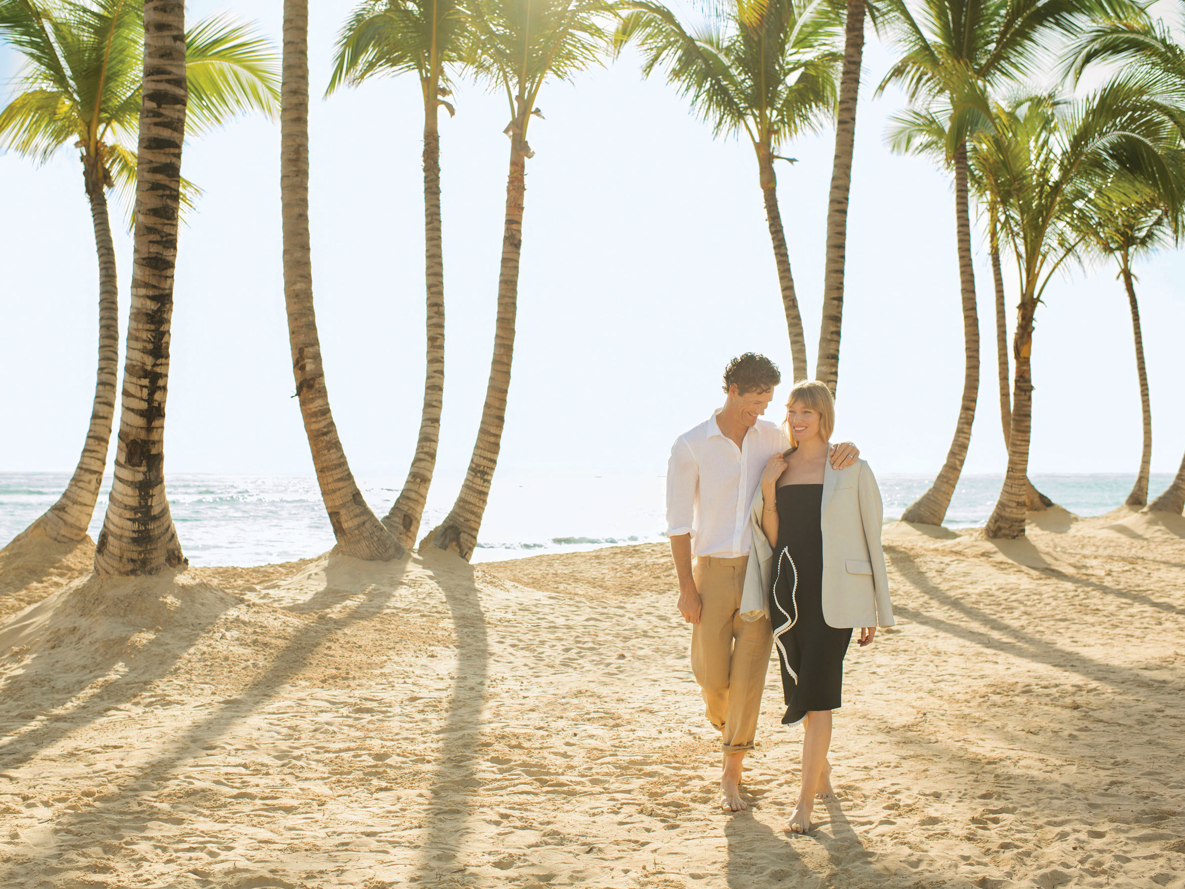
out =
{"type": "MultiPolygon", "coordinates": [[[[225,8],[188,5],[190,21],[225,8]]],[[[237,14],[278,43],[281,5],[237,14]]],[[[422,104],[411,77],[320,101],[348,4],[310,19],[314,292],[334,417],[359,475],[402,477],[423,384],[422,104]]],[[[936,472],[963,378],[948,178],[891,155],[872,98],[891,59],[869,28],[848,223],[837,436],[880,472],[936,472]]],[[[17,59],[0,49],[0,78],[17,59]]],[[[720,371],[789,345],[751,148],[713,140],[661,79],[623,57],[544,88],[531,124],[519,324],[502,439],[506,473],[665,471],[671,442],[723,398],[720,371]]],[[[462,87],[441,126],[446,301],[438,472],[473,447],[493,341],[508,142],[505,100],[462,87]]],[[[289,364],[280,250],[278,127],[248,119],[191,143],[205,194],[180,242],[166,467],[310,473],[289,364]]],[[[814,367],[833,134],[789,146],[779,198],[814,367]]],[[[72,151],[34,168],[0,154],[0,471],[69,471],[94,394],[97,271],[72,151]]],[[[120,224],[122,217],[114,216],[120,224]]],[[[121,340],[130,239],[117,236],[121,340]]],[[[982,367],[968,472],[1001,472],[991,271],[976,230],[982,367]]],[[[1132,472],[1140,405],[1114,268],[1056,279],[1033,345],[1033,472],[1132,472]]],[[[1138,267],[1152,388],[1153,471],[1185,450],[1185,261],[1138,267]]],[[[1016,273],[1006,267],[1010,322],[1016,273]]],[[[121,359],[122,360],[122,359],[121,359]]],[[[787,386],[783,385],[783,390],[787,386]]],[[[775,401],[775,404],[777,402],[775,401]]],[[[770,411],[770,418],[776,411],[770,411]]],[[[114,447],[111,454],[114,456],[114,447]]]]}

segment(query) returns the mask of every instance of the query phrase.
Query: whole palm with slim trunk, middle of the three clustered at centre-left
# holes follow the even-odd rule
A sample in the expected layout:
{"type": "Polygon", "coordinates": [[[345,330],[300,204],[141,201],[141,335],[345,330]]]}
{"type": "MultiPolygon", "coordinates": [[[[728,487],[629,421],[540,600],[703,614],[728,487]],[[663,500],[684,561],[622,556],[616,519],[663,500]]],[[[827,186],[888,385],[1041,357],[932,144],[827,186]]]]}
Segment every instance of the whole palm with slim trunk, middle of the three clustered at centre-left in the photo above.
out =
{"type": "Polygon", "coordinates": [[[378,75],[414,71],[424,101],[424,281],[428,292],[428,358],[419,439],[403,490],[383,519],[406,548],[428,500],[436,467],[444,395],[444,247],[441,236],[441,153],[437,115],[453,114],[448,69],[460,62],[465,14],[455,0],[371,0],[359,6],[338,38],[327,92],[378,75]]]}

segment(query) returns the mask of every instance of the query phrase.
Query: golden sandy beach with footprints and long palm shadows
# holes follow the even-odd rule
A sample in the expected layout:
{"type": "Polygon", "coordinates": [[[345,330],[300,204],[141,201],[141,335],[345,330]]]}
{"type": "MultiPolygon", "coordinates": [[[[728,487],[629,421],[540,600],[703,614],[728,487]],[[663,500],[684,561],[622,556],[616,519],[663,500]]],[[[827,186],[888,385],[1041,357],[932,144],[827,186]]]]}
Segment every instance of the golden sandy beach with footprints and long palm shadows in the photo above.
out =
{"type": "Polygon", "coordinates": [[[1185,885],[1185,519],[885,543],[898,625],[848,653],[807,837],[776,661],[716,808],[660,544],[104,582],[13,544],[0,884],[1185,885]]]}

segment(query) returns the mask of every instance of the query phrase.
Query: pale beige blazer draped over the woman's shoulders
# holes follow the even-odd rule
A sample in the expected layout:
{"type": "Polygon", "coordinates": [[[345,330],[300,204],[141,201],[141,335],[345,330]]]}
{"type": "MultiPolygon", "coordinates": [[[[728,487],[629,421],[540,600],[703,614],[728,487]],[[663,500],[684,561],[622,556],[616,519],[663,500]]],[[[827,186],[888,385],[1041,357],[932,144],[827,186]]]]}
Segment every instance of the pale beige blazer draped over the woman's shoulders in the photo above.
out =
{"type": "MultiPolygon", "coordinates": [[[[757,491],[749,511],[752,535],[745,568],[741,616],[769,618],[776,555],[761,527],[763,500],[757,491]]],[[[889,574],[880,548],[884,509],[876,477],[864,460],[846,469],[824,469],[822,616],[831,627],[891,627],[889,574]]]]}

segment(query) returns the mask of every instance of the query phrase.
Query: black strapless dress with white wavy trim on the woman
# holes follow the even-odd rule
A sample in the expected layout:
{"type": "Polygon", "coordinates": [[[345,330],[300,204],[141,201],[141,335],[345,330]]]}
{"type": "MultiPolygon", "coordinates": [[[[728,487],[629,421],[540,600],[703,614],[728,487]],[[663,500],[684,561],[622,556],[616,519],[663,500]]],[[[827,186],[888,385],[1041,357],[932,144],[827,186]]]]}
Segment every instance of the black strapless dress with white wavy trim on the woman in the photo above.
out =
{"type": "Polygon", "coordinates": [[[830,627],[822,619],[822,485],[783,485],[776,498],[770,618],[786,696],[782,723],[796,725],[808,710],[840,706],[852,629],[830,627]]]}

